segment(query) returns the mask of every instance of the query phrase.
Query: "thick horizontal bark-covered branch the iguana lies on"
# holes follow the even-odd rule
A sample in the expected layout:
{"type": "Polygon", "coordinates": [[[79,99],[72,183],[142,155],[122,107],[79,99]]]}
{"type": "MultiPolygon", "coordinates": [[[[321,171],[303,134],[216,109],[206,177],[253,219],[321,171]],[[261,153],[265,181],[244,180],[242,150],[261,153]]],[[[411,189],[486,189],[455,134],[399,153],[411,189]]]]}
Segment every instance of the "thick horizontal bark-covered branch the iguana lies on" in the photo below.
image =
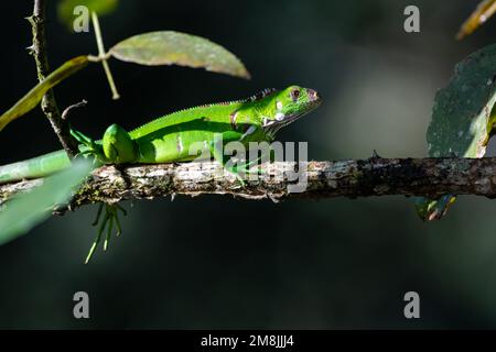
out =
{"type": "MultiPolygon", "coordinates": [[[[258,180],[242,188],[214,162],[104,166],[77,191],[69,208],[99,201],[153,199],[179,195],[233,195],[247,199],[332,198],[385,195],[429,196],[444,194],[496,197],[496,157],[486,158],[381,158],[310,162],[303,193],[288,193],[296,180],[283,179],[295,163],[263,166],[258,180]],[[277,177],[279,176],[279,177],[277,177]]],[[[304,175],[304,174],[303,174],[304,175]]],[[[40,185],[42,179],[0,186],[0,205],[18,191],[40,185]]]]}

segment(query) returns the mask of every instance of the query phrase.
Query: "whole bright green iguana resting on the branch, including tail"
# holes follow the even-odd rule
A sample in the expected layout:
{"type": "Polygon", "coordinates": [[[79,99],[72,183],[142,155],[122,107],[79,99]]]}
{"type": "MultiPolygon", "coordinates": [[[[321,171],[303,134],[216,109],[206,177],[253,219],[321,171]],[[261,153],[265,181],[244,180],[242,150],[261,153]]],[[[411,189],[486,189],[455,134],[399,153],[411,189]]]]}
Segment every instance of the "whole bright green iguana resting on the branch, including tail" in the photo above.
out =
{"type": "MultiPolygon", "coordinates": [[[[93,141],[78,131],[72,131],[83,155],[95,157],[95,167],[103,164],[158,164],[188,162],[204,152],[220,162],[226,168],[222,151],[214,138],[220,135],[223,146],[240,142],[272,142],[276,133],[321,103],[313,89],[290,86],[283,90],[266,89],[248,99],[212,103],[181,110],[127,132],[118,124],[110,125],[100,141],[93,141]],[[196,153],[191,153],[194,148],[196,153]]],[[[64,151],[53,152],[28,161],[0,166],[0,184],[24,178],[42,177],[68,167],[71,162],[64,151]]],[[[229,168],[229,172],[237,173],[229,168]]],[[[98,245],[107,223],[104,249],[110,240],[112,224],[118,234],[118,205],[107,206],[104,221],[91,246],[87,261],[98,245]]],[[[101,208],[98,211],[98,218],[101,208]]]]}

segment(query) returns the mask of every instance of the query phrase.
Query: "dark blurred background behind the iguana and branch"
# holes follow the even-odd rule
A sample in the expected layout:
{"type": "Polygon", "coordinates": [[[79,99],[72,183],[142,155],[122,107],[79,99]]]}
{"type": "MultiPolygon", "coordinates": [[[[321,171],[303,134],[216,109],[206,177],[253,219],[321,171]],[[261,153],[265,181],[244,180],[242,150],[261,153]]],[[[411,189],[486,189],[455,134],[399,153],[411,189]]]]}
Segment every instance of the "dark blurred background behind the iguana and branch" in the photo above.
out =
{"type": "MultiPolygon", "coordinates": [[[[309,142],[312,160],[427,155],[435,91],[454,65],[495,42],[496,20],[462,42],[454,35],[478,1],[121,1],[100,18],[107,47],[133,34],[175,30],[207,37],[242,59],[250,81],[183,67],[111,61],[121,94],[100,66],[55,89],[62,108],[99,138],[180,108],[244,98],[291,84],[323,106],[279,134],[309,142]],[[420,33],[403,9],[420,9],[420,33]]],[[[7,110],[36,84],[32,1],[9,1],[1,22],[7,110]]],[[[97,54],[93,32],[72,34],[48,3],[52,67],[97,54]]],[[[35,109],[1,133],[0,165],[60,148],[35,109]]],[[[489,147],[489,154],[495,154],[489,147]]],[[[423,223],[412,200],[248,201],[220,196],[126,202],[123,233],[108,253],[84,258],[96,207],[52,218],[0,248],[0,328],[348,329],[496,328],[496,201],[460,197],[448,217],[423,223]],[[87,292],[90,319],[73,317],[87,292]],[[421,319],[403,317],[420,295],[421,319]]]]}

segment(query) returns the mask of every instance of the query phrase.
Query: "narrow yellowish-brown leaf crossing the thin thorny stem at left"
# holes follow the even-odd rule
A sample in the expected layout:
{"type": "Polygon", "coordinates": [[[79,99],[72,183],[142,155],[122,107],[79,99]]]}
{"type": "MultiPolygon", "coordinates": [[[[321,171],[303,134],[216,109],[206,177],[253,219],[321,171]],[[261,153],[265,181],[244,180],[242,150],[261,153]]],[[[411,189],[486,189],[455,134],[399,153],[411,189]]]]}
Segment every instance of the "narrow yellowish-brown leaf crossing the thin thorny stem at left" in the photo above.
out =
{"type": "Polygon", "coordinates": [[[88,64],[87,56],[77,56],[65,62],[61,67],[50,74],[43,81],[39,82],[12,108],[0,117],[0,131],[13,120],[31,111],[43,99],[43,96],[54,86],[58,85],[68,76],[75,74],[88,64]]]}

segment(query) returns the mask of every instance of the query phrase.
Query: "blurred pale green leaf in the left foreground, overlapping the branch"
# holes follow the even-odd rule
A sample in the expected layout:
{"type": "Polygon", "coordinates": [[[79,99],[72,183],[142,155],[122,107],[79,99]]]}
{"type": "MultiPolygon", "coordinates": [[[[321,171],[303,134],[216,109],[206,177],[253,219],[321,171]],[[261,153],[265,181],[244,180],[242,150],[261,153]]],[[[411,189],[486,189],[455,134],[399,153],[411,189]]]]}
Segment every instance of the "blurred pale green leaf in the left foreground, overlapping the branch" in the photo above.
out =
{"type": "Polygon", "coordinates": [[[65,204],[91,168],[90,161],[76,161],[73,166],[46,177],[43,185],[9,200],[0,210],[0,245],[46,220],[53,207],[65,204]]]}

